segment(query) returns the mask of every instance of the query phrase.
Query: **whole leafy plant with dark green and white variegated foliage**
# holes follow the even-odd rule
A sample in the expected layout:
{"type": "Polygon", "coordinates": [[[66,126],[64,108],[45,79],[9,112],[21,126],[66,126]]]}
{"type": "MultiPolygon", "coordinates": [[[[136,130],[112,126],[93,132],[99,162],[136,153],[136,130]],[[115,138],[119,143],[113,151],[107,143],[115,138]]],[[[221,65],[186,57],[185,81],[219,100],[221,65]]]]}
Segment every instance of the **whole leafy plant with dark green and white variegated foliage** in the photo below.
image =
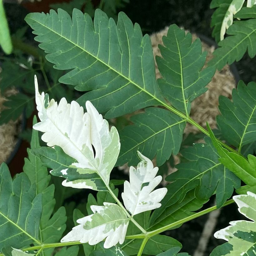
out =
{"type": "MultiPolygon", "coordinates": [[[[181,244],[163,232],[234,200],[240,211],[255,221],[254,82],[246,86],[240,81],[232,92],[232,101],[219,99],[217,124],[223,142],[215,138],[209,126],[205,130],[190,118],[191,102],[206,91],[215,72],[215,66],[203,69],[206,54],[199,39],[192,43],[190,33],[170,26],[163,38],[164,47],[160,47],[162,57],[156,60],[162,78],[156,80],[148,35],[142,36],[139,25],[133,25],[122,12],[117,24],[99,9],[93,21],[77,9],[72,19],[58,9],[48,15],[31,13],[26,21],[46,52],[46,59],[56,70],[67,71],[58,81],[84,94],[71,104],[65,98],[57,104],[48,94],[39,93],[35,80],[41,122],[34,119],[24,173],[12,181],[7,166],[2,164],[0,168],[2,254],[75,256],[81,253],[77,245],[82,244],[82,253],[91,256],[182,256],[187,254],[179,253],[181,244]],[[134,124],[120,132],[113,126],[109,130],[106,119],[140,109],[142,113],[130,119],[134,124]],[[153,191],[161,176],[156,176],[158,168],[151,160],[155,158],[160,166],[180,151],[187,122],[206,135],[204,143],[183,148],[180,153],[185,160],[166,177],[171,183],[153,191]],[[43,132],[42,141],[47,147],[39,145],[37,130],[43,132]],[[137,169],[130,167],[129,182],[112,180],[114,166],[127,162],[137,165],[137,169]],[[72,214],[67,218],[74,224],[66,222],[63,206],[55,207],[54,185],[49,185],[47,168],[52,176],[62,177],[62,186],[57,185],[61,178],[53,180],[59,187],[56,198],[62,197],[62,204],[66,194],[78,197],[82,191],[85,197],[75,206],[66,204],[72,214]],[[241,180],[245,183],[242,187],[241,180]],[[123,183],[120,196],[118,188],[123,183]],[[96,198],[84,189],[98,191],[96,198]],[[234,189],[241,195],[229,199],[234,189]],[[213,195],[216,206],[198,211],[213,195]],[[65,223],[69,223],[67,231],[65,223]],[[72,247],[54,250],[63,246],[72,247]]],[[[211,255],[254,252],[254,222],[246,222],[248,229],[238,223],[226,229],[228,237],[222,231],[215,234],[228,243],[211,255]]]]}

